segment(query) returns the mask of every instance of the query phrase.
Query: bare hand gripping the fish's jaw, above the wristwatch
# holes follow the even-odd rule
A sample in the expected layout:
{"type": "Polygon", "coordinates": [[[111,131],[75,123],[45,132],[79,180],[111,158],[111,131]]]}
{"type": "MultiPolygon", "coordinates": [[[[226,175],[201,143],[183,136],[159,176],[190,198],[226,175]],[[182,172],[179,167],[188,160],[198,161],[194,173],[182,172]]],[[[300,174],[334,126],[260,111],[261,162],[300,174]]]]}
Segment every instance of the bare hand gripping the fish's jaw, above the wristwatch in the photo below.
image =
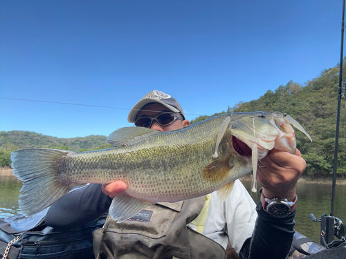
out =
{"type": "Polygon", "coordinates": [[[273,149],[258,164],[257,181],[263,187],[266,198],[295,198],[295,184],[305,169],[306,162],[302,154],[295,149],[295,154],[273,149]]]}

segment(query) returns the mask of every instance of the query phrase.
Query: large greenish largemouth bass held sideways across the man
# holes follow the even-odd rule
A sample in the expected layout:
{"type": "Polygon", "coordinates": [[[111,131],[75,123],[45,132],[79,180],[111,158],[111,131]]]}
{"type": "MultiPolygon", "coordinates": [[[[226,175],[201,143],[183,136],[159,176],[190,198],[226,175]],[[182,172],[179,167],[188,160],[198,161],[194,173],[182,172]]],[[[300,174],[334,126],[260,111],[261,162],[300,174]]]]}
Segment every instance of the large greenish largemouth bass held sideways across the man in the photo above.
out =
{"type": "Polygon", "coordinates": [[[176,131],[127,127],[107,142],[114,148],[75,152],[28,148],[11,153],[13,173],[23,181],[19,207],[33,215],[74,186],[121,180],[127,190],[109,214],[122,222],[156,202],[178,202],[217,191],[221,201],[233,182],[253,170],[269,150],[295,153],[291,124],[311,137],[289,115],[228,113],[176,131]]]}

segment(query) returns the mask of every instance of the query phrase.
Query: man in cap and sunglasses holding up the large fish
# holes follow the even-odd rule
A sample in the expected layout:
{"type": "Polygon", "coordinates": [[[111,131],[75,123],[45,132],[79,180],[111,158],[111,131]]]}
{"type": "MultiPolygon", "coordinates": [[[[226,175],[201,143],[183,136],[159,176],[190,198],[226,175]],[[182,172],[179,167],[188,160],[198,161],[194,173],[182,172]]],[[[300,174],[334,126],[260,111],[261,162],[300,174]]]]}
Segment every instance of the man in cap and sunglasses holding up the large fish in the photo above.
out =
{"type": "MultiPolygon", "coordinates": [[[[156,131],[173,131],[190,124],[176,99],[157,90],[140,99],[131,109],[128,121],[156,131]]],[[[223,258],[230,242],[242,258],[286,258],[294,233],[295,184],[305,169],[305,162],[298,150],[295,155],[272,150],[258,166],[257,180],[263,188],[262,202],[257,207],[237,180],[225,202],[220,202],[214,192],[179,204],[153,205],[146,209],[149,212],[143,212],[149,213],[147,220],[135,216],[133,220],[116,224],[108,218],[104,229],[95,234],[95,256],[223,258]],[[268,203],[269,207],[275,206],[274,198],[286,199],[283,202],[289,211],[284,218],[264,211],[268,203]],[[164,233],[161,236],[160,231],[164,233]]],[[[52,205],[46,224],[73,227],[90,222],[106,212],[111,198],[126,188],[125,182],[117,181],[103,184],[103,193],[100,184],[72,191],[52,205]]]]}

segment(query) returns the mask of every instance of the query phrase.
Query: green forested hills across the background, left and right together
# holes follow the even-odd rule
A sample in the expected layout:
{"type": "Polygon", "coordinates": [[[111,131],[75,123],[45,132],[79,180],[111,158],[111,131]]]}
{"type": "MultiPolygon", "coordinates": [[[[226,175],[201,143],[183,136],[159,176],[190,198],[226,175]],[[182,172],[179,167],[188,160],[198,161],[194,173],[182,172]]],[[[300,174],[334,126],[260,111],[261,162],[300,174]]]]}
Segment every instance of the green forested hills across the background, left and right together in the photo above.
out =
{"type": "MultiPolygon", "coordinates": [[[[345,59],[344,59],[345,64],[345,59]]],[[[346,70],[346,66],[344,66],[346,70]]],[[[343,75],[345,75],[345,70],[343,75]]],[[[246,111],[280,111],[291,115],[311,135],[313,142],[296,131],[297,147],[307,161],[306,173],[332,173],[334,164],[334,141],[336,131],[336,108],[338,95],[338,66],[322,70],[320,76],[303,84],[289,81],[285,86],[279,86],[274,92],[268,90],[257,100],[239,102],[235,107],[228,106],[227,111],[215,113],[246,111]]],[[[246,87],[246,86],[242,86],[246,87]]],[[[346,173],[346,131],[345,131],[345,101],[342,99],[340,116],[340,139],[338,155],[338,173],[346,173]]],[[[211,116],[214,116],[211,115],[211,116]]],[[[192,120],[199,122],[211,116],[201,116],[192,120]]],[[[90,151],[109,148],[105,143],[107,137],[91,135],[63,139],[50,137],[28,131],[0,131],[0,166],[10,164],[10,152],[19,148],[59,148],[75,151],[90,151]]]]}

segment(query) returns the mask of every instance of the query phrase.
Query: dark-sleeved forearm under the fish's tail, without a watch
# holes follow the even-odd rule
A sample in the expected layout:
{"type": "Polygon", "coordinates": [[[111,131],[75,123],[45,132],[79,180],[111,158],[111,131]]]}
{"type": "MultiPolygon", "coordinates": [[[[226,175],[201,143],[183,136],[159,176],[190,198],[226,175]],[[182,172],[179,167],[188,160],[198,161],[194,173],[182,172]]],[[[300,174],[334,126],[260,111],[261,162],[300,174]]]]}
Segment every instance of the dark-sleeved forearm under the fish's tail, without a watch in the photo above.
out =
{"type": "Polygon", "coordinates": [[[102,193],[101,184],[88,184],[64,195],[49,208],[46,224],[72,228],[91,222],[107,212],[111,198],[102,193]]]}

